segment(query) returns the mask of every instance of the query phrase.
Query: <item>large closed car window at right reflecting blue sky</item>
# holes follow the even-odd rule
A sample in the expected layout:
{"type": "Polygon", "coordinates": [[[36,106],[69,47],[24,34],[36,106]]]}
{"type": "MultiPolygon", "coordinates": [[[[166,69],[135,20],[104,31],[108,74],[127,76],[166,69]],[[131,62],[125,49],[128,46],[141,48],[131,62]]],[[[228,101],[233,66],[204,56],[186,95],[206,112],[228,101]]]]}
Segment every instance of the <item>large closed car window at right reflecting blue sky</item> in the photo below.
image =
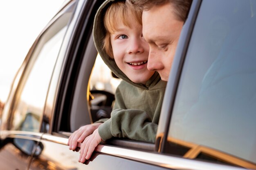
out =
{"type": "Polygon", "coordinates": [[[164,152],[256,169],[256,0],[203,0],[164,152]]]}

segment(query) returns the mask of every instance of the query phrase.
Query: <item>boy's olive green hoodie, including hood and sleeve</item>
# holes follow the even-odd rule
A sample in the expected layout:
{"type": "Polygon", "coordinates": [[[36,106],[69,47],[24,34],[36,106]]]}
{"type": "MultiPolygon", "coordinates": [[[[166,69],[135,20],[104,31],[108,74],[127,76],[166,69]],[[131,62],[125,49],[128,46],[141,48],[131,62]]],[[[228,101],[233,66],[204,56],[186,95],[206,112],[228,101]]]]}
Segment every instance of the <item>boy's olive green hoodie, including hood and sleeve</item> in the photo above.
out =
{"type": "Polygon", "coordinates": [[[103,61],[123,81],[115,93],[115,104],[111,118],[98,121],[104,122],[99,126],[99,135],[103,141],[112,137],[125,137],[153,143],[155,142],[166,82],[162,81],[159,74],[155,72],[146,85],[133,83],[117,67],[115,60],[103,50],[103,39],[106,35],[103,16],[113,1],[115,0],[106,0],[99,7],[94,19],[93,37],[103,61]]]}

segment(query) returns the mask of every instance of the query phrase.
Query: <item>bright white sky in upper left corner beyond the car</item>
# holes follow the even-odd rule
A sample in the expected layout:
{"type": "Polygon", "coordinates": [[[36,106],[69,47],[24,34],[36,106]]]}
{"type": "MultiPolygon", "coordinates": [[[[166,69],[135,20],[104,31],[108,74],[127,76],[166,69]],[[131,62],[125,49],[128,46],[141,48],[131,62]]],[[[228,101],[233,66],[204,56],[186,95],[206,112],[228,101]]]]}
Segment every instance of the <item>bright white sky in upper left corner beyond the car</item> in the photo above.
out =
{"type": "Polygon", "coordinates": [[[13,78],[37,36],[64,0],[0,2],[0,101],[7,100],[13,78]]]}

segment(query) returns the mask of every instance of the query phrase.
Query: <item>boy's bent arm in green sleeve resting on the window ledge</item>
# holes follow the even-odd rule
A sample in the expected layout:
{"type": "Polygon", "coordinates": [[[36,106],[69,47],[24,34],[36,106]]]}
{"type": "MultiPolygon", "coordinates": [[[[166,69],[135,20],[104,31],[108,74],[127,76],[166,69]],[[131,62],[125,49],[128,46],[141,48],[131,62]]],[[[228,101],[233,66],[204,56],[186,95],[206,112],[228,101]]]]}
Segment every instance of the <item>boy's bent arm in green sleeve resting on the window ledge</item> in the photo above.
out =
{"type": "Polygon", "coordinates": [[[116,109],[111,118],[99,126],[99,135],[104,141],[112,137],[127,137],[154,143],[158,125],[151,121],[144,110],[116,109]]]}

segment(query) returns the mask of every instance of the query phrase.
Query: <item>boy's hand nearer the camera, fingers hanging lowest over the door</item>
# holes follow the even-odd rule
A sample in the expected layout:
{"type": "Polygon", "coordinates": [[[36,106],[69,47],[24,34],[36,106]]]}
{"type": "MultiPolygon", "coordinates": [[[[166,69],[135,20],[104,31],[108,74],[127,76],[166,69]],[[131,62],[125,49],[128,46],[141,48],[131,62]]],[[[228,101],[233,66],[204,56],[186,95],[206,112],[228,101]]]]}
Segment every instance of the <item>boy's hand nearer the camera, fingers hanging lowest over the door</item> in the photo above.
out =
{"type": "Polygon", "coordinates": [[[101,142],[101,137],[99,136],[98,129],[94,130],[94,132],[85,138],[85,140],[82,143],[81,150],[80,150],[80,156],[79,156],[79,162],[84,163],[85,160],[89,160],[92,152],[96,148],[97,145],[101,142]]]}

